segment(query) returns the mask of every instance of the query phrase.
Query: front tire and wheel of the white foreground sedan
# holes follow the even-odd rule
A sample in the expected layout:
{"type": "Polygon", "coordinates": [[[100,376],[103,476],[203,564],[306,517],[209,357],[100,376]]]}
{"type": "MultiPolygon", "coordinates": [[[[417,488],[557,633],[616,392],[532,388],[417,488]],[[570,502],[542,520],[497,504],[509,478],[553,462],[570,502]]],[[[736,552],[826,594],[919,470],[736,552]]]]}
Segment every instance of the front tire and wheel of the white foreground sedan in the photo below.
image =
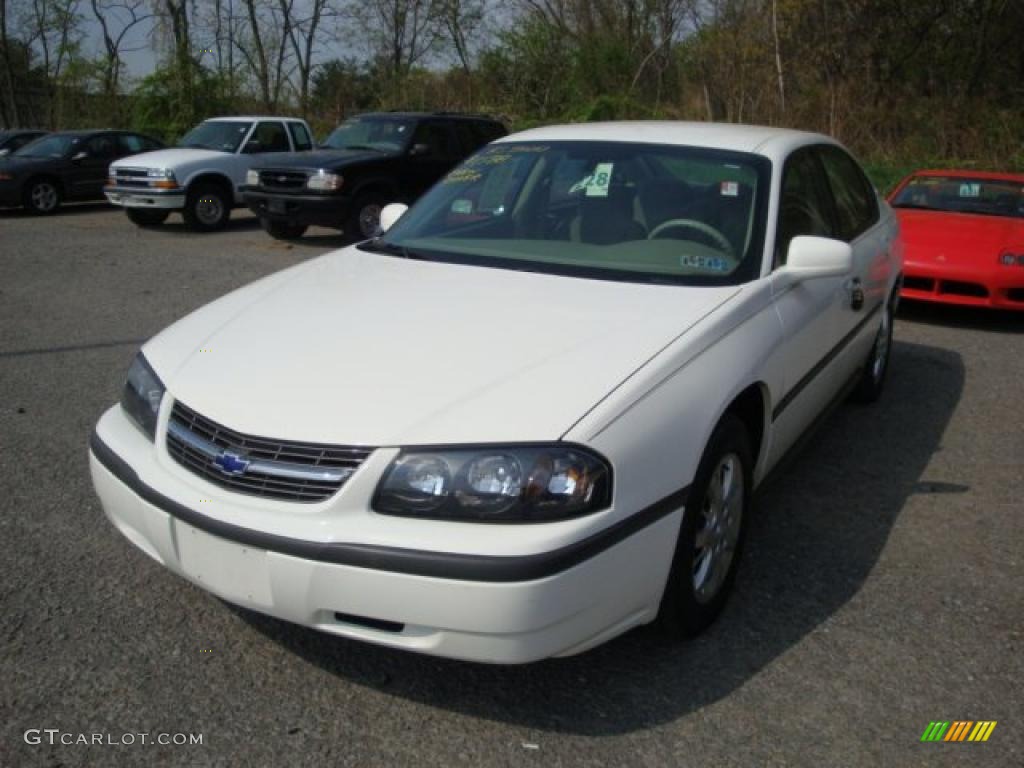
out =
{"type": "Polygon", "coordinates": [[[753,467],[746,428],[726,414],[700,457],[662,596],[657,622],[674,639],[700,634],[732,592],[750,518],[753,467]]]}

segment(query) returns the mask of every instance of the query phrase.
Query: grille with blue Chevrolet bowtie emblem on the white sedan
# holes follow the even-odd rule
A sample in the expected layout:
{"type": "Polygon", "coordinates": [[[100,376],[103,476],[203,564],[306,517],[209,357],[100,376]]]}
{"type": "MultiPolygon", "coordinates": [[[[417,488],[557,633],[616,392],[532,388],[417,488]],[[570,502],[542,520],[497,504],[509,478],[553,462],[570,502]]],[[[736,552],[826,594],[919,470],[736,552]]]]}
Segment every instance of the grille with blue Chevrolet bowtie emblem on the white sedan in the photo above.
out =
{"type": "Polygon", "coordinates": [[[167,452],[190,472],[240,494],[319,502],[337,493],[373,449],[254,437],[178,401],[167,425],[167,452]]]}

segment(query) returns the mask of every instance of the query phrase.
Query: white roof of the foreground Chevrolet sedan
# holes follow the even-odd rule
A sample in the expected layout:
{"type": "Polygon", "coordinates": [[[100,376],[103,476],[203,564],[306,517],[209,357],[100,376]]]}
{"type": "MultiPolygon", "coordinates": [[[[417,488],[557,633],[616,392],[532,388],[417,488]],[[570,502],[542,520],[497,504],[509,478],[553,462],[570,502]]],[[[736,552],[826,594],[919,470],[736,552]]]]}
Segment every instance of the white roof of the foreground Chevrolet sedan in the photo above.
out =
{"type": "Polygon", "coordinates": [[[839,144],[824,134],[788,128],[668,120],[552,125],[513,133],[495,143],[505,141],[629,141],[705,146],[768,157],[784,157],[794,146],[803,144],[839,144]]]}

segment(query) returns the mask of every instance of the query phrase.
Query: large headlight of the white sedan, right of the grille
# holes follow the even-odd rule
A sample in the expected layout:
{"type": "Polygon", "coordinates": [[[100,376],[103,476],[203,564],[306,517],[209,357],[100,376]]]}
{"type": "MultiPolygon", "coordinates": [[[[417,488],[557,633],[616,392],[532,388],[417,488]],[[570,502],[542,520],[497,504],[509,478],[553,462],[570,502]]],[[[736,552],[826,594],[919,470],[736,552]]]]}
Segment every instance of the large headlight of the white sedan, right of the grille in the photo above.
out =
{"type": "Polygon", "coordinates": [[[386,515],[482,522],[546,522],[611,502],[611,468],[579,445],[551,443],[402,450],[374,495],[386,515]]]}

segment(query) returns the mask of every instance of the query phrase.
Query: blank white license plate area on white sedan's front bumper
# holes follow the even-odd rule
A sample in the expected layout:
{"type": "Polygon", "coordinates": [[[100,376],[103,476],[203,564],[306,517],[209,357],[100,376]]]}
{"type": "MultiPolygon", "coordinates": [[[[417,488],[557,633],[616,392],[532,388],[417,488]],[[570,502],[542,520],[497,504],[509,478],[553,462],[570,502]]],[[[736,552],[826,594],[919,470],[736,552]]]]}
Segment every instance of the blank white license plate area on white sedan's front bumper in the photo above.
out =
{"type": "Polygon", "coordinates": [[[210,536],[175,521],[181,569],[227,600],[270,605],[266,551],[210,536]]]}

